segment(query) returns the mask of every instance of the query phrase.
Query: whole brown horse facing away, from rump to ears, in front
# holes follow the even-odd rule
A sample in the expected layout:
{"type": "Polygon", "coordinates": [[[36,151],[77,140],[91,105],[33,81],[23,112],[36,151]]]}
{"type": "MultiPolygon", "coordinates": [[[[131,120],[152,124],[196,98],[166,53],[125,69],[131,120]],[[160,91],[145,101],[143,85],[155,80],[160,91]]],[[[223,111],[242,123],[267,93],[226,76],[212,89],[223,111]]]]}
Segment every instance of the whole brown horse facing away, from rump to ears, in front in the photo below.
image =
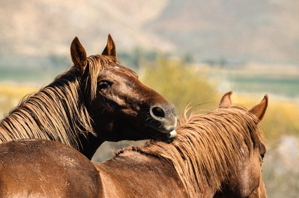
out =
{"type": "Polygon", "coordinates": [[[266,197],[258,124],[268,96],[247,111],[231,92],[207,114],[186,114],[173,141],[150,141],[90,162],[58,142],[0,145],[1,197],[266,197]]]}

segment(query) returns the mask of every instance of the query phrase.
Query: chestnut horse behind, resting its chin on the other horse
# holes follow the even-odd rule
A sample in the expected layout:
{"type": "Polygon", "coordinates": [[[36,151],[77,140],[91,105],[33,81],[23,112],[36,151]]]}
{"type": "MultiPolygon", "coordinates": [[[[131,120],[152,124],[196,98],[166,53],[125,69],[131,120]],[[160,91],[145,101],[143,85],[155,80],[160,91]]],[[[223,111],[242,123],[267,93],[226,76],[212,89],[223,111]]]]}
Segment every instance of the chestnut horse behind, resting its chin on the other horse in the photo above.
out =
{"type": "Polygon", "coordinates": [[[104,141],[176,136],[175,107],[118,63],[110,34],[102,55],[90,57],[76,37],[71,58],[68,71],[0,120],[0,143],[44,138],[91,159],[104,141]]]}

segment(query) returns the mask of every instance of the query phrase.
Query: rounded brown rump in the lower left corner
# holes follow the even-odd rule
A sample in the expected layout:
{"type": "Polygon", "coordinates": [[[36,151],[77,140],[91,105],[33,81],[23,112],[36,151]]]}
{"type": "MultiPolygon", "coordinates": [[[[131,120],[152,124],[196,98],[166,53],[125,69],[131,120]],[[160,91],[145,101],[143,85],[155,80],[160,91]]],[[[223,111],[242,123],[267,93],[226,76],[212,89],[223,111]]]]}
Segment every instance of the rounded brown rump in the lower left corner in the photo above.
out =
{"type": "Polygon", "coordinates": [[[0,145],[0,197],[97,197],[99,174],[77,150],[25,139],[0,145]]]}

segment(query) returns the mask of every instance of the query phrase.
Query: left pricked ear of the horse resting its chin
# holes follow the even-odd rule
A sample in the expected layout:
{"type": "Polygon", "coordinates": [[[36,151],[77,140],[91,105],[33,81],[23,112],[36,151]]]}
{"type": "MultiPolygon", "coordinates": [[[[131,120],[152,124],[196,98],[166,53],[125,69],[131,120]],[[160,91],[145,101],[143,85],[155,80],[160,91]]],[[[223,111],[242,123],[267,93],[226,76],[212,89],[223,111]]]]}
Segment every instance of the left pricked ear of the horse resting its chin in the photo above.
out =
{"type": "Polygon", "coordinates": [[[74,38],[71,44],[71,57],[74,65],[81,73],[83,73],[87,65],[86,51],[81,45],[77,36],[74,38]]]}

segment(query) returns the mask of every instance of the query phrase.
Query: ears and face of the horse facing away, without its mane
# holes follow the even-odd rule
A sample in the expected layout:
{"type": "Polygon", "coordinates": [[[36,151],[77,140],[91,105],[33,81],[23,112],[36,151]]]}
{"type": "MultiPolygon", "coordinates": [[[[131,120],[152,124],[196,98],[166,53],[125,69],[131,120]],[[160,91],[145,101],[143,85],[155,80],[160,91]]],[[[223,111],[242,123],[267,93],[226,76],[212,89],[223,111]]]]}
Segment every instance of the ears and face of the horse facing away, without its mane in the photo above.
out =
{"type": "MultiPolygon", "coordinates": [[[[231,95],[232,92],[226,93],[220,103],[218,108],[229,108],[231,106],[231,95]]],[[[254,115],[256,123],[259,124],[265,116],[266,109],[268,106],[268,95],[266,94],[263,100],[248,110],[248,113],[254,115]]],[[[239,165],[237,167],[238,175],[232,175],[230,181],[226,182],[222,186],[222,192],[216,193],[214,197],[267,197],[266,187],[262,178],[262,162],[266,154],[265,145],[260,142],[256,145],[249,157],[237,162],[239,165]]]]}

